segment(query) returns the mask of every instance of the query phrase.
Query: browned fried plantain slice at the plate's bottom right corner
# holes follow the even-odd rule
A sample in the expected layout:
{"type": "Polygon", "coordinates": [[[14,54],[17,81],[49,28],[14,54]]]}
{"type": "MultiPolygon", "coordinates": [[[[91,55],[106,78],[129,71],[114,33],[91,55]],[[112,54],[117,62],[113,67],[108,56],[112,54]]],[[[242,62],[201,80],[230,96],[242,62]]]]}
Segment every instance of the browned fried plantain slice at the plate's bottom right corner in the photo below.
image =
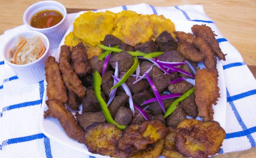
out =
{"type": "Polygon", "coordinates": [[[220,152],[226,136],[217,121],[187,119],[175,129],[175,146],[186,157],[207,157],[220,152]]]}

